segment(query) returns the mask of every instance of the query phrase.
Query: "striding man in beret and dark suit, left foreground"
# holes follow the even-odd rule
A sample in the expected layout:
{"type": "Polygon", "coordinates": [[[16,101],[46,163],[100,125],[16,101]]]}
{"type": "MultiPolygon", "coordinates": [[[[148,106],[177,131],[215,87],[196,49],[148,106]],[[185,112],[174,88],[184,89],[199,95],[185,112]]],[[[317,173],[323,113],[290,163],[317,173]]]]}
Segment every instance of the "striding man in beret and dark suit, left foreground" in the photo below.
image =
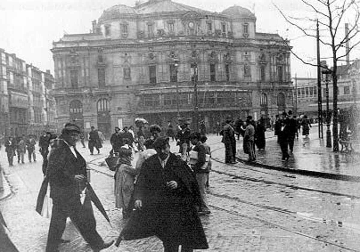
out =
{"type": "Polygon", "coordinates": [[[96,231],[92,210],[91,213],[83,212],[80,192],[86,186],[86,162],[75,148],[80,132],[76,124],[67,123],[62,134],[51,146],[46,179],[50,184],[53,209],[46,252],[59,251],[58,246],[63,241],[61,237],[67,217],[70,217],[94,251],[100,251],[112,244],[105,243],[96,231]]]}

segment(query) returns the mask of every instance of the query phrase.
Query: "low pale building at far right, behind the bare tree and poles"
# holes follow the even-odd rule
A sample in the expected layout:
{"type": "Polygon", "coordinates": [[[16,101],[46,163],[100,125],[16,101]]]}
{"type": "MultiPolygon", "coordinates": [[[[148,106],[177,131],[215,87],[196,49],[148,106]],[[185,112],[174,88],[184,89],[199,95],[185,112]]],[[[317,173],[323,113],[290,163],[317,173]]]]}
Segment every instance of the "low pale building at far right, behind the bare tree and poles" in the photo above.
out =
{"type": "MultiPolygon", "coordinates": [[[[338,108],[349,109],[358,107],[360,103],[360,60],[351,64],[338,66],[338,108]]],[[[328,76],[329,110],[333,110],[332,77],[328,76]]],[[[318,117],[318,81],[316,78],[293,78],[297,90],[295,96],[296,111],[318,117]]],[[[323,114],[326,111],[326,84],[325,76],[321,76],[321,107],[323,114]]]]}

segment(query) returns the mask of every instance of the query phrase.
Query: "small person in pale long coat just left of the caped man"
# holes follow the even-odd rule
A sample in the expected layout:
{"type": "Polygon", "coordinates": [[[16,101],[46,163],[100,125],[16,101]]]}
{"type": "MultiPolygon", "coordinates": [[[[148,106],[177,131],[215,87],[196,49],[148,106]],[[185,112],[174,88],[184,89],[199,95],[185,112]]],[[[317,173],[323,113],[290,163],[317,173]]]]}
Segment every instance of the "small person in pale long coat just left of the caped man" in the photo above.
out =
{"type": "Polygon", "coordinates": [[[119,159],[115,170],[115,207],[122,208],[123,218],[129,217],[132,208],[129,207],[131,195],[134,191],[134,181],[138,170],[131,165],[131,149],[120,148],[119,159]]]}

